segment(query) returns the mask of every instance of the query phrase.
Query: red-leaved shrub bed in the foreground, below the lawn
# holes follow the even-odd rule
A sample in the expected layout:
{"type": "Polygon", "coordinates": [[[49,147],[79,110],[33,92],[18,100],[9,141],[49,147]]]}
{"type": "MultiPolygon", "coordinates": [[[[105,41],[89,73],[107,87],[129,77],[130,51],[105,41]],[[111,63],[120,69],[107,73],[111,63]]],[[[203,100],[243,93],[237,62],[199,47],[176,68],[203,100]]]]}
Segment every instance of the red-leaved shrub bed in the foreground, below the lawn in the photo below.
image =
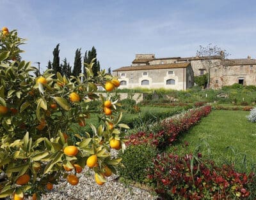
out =
{"type": "Polygon", "coordinates": [[[236,199],[250,196],[255,174],[237,173],[233,166],[219,168],[200,156],[158,154],[149,170],[157,194],[163,199],[236,199]]]}

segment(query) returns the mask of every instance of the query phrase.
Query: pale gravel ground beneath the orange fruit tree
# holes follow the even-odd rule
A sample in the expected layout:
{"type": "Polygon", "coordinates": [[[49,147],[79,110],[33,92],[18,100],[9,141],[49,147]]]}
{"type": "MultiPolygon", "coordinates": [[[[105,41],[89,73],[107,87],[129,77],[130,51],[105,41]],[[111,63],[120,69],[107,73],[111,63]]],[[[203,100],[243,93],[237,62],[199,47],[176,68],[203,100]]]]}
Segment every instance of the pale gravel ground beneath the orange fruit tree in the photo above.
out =
{"type": "Polygon", "coordinates": [[[42,196],[42,199],[157,199],[146,190],[116,182],[115,175],[109,177],[108,182],[102,186],[95,183],[91,169],[84,168],[79,175],[78,185],[72,186],[64,180],[59,185],[54,185],[54,189],[42,196]]]}

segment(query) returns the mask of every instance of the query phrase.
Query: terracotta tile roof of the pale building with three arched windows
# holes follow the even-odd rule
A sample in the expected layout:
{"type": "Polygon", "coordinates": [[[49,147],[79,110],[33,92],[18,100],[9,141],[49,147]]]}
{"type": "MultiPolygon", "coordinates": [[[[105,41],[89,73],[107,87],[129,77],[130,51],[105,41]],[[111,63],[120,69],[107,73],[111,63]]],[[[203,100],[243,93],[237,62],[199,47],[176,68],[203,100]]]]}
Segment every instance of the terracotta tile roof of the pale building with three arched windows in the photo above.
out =
{"type": "Polygon", "coordinates": [[[172,64],[150,64],[143,66],[129,66],[115,69],[113,71],[134,71],[145,69],[172,69],[172,68],[187,68],[190,65],[188,62],[172,63],[172,64]]]}

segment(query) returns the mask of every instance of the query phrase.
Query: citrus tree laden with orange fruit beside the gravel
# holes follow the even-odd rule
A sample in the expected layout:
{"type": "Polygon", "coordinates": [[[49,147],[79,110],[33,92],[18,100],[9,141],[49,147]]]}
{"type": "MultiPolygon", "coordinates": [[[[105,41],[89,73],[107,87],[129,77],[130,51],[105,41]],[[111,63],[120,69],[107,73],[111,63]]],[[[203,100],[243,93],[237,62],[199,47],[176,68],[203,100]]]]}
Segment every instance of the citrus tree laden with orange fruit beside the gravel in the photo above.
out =
{"type": "Polygon", "coordinates": [[[0,31],[0,197],[33,194],[39,199],[61,177],[76,185],[86,164],[95,172],[95,181],[104,184],[121,161],[111,157],[110,141],[115,139],[114,148],[124,150],[124,130],[129,127],[119,123],[118,103],[95,92],[106,83],[110,92],[118,80],[105,71],[93,76],[93,61],[86,76],[54,76],[47,70],[36,77],[37,69],[20,61],[24,39],[6,30],[0,31]],[[92,101],[102,103],[102,124],[91,124],[93,134],[82,136],[72,126],[88,125],[92,101]]]}

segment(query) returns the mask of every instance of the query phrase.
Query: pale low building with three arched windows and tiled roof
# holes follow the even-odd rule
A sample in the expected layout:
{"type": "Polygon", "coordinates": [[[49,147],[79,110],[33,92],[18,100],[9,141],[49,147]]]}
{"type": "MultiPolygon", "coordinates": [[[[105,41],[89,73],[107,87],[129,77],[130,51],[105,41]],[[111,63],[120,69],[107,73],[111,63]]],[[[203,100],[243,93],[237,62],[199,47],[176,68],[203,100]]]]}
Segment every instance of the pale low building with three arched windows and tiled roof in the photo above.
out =
{"type": "Polygon", "coordinates": [[[120,89],[144,87],[186,90],[194,84],[193,69],[189,63],[123,67],[113,70],[113,76],[118,76],[120,89]]]}

